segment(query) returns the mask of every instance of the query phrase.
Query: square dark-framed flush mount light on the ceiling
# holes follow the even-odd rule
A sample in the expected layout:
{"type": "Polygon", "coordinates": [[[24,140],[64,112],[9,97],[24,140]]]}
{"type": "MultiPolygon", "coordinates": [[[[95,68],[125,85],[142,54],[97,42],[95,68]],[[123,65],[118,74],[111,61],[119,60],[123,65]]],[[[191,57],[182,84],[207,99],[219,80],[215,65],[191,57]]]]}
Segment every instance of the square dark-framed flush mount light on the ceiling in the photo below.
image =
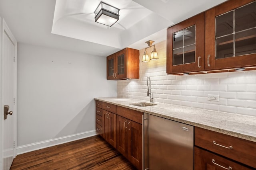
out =
{"type": "Polygon", "coordinates": [[[110,27],[119,20],[119,9],[104,2],[100,2],[94,11],[94,14],[95,22],[108,25],[110,27]]]}

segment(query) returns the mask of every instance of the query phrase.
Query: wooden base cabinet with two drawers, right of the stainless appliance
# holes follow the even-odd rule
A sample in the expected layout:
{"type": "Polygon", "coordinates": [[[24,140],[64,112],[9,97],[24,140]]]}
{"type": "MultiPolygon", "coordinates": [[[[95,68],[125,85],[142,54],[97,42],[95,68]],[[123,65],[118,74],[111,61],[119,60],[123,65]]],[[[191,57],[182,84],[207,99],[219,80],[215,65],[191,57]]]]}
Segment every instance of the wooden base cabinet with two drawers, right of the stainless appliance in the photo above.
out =
{"type": "Polygon", "coordinates": [[[194,133],[195,170],[222,169],[219,165],[232,170],[256,168],[256,143],[199,127],[194,133]]]}

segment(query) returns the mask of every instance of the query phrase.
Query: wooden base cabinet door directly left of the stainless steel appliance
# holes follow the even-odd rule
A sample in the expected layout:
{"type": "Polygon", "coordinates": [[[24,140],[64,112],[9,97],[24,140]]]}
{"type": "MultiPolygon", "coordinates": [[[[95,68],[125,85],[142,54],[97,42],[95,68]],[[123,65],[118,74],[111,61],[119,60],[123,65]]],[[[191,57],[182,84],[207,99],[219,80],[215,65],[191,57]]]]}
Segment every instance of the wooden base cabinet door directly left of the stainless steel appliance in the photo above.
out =
{"type": "Polygon", "coordinates": [[[128,120],[128,160],[142,169],[142,125],[128,120]]]}

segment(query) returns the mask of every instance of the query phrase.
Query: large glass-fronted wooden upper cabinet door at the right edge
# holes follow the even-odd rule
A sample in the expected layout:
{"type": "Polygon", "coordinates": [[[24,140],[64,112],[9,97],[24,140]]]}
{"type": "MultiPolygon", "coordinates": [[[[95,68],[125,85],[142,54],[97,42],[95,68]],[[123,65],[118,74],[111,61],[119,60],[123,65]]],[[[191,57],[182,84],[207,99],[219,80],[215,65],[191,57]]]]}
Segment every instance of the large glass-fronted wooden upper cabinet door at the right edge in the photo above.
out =
{"type": "Polygon", "coordinates": [[[229,0],[205,12],[205,69],[256,66],[256,2],[229,0]]]}

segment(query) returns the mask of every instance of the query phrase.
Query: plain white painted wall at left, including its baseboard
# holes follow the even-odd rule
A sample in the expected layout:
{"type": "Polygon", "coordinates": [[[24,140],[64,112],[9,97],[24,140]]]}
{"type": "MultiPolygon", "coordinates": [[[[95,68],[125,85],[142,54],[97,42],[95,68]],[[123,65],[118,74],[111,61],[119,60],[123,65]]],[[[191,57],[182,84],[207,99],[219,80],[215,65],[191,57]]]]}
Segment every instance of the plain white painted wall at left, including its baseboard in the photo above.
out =
{"type": "Polygon", "coordinates": [[[18,153],[94,134],[105,96],[116,96],[105,57],[18,43],[18,153]]]}

